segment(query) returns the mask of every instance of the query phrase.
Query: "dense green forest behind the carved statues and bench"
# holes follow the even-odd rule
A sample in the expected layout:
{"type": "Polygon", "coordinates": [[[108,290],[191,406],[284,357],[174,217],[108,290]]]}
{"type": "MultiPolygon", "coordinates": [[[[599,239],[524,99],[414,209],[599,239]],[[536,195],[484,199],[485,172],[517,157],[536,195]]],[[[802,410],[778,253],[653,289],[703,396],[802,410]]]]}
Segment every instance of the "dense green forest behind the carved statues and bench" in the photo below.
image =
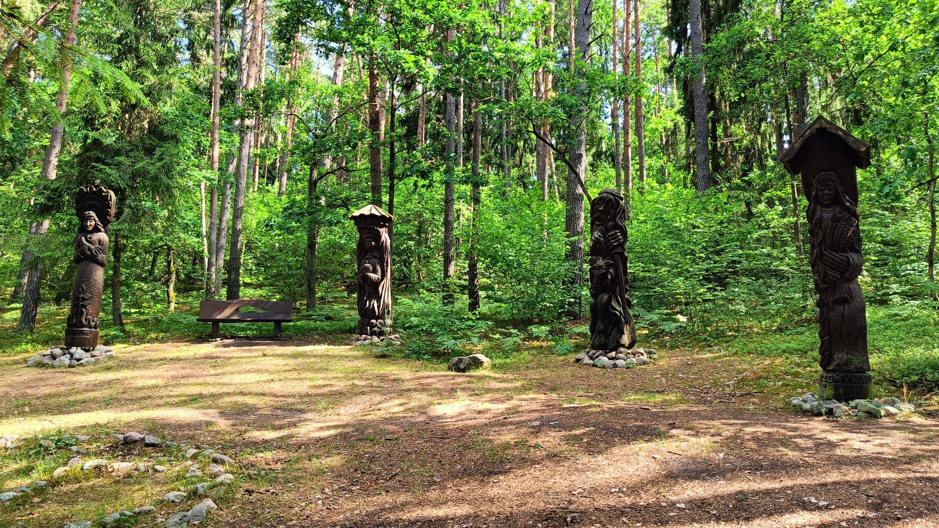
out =
{"type": "Polygon", "coordinates": [[[585,202],[606,187],[626,193],[640,332],[805,334],[807,203],[777,158],[821,115],[872,152],[861,284],[879,351],[903,356],[891,380],[939,388],[937,334],[890,330],[937,321],[933,3],[21,1],[0,21],[16,342],[64,314],[71,201],[95,182],[119,206],[112,342],[197,333],[203,299],[351,332],[347,215],[373,203],[396,219],[409,354],[505,329],[570,349],[585,202]]]}

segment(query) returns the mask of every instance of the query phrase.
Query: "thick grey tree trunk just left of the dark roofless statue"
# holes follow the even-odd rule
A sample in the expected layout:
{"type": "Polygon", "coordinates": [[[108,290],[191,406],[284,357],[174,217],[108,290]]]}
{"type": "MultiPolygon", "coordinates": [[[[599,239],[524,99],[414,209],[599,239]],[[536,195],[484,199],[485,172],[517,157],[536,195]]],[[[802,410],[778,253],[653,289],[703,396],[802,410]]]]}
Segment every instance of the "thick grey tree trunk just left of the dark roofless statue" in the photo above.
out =
{"type": "MultiPolygon", "coordinates": [[[[568,122],[571,130],[577,138],[577,143],[572,146],[569,159],[574,169],[567,171],[567,212],[564,215],[564,228],[567,232],[569,242],[567,249],[567,259],[575,266],[577,270],[574,277],[574,285],[577,288],[577,316],[583,314],[581,303],[581,292],[583,287],[583,258],[584,258],[584,176],[587,169],[587,129],[585,127],[586,116],[590,112],[590,106],[587,101],[586,82],[584,81],[586,63],[590,60],[590,27],[593,23],[592,0],[579,0],[577,2],[577,23],[575,33],[575,48],[571,50],[572,55],[576,53],[578,59],[575,60],[574,68],[574,89],[573,95],[579,102],[579,112],[573,114],[568,122]],[[580,62],[582,64],[577,64],[580,62]]],[[[573,59],[572,59],[573,60],[573,59]]]]}

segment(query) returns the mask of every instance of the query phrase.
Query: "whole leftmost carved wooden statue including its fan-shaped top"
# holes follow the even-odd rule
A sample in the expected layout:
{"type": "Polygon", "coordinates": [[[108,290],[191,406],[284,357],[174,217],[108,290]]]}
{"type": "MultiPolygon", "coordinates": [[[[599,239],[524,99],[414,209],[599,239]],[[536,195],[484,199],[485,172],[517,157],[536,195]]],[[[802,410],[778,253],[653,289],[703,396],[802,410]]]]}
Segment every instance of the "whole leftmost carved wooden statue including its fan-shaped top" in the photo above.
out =
{"type": "Polygon", "coordinates": [[[75,198],[75,212],[81,225],[75,238],[72,260],[78,267],[71,293],[65,345],[94,349],[98,346],[104,266],[108,262],[106,229],[114,219],[115,194],[100,185],[82,187],[75,198]]]}

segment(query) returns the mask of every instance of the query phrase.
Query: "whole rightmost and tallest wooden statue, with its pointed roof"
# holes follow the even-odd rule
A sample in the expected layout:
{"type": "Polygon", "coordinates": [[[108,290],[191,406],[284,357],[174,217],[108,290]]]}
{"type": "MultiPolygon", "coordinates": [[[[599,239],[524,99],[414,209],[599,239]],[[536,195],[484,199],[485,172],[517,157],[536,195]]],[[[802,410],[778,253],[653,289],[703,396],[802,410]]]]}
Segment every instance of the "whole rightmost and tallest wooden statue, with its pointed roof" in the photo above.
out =
{"type": "Polygon", "coordinates": [[[819,397],[871,397],[868,324],[857,215],[858,168],[870,166],[870,148],[819,116],[779,160],[802,177],[808,198],[810,264],[818,294],[819,397]]]}

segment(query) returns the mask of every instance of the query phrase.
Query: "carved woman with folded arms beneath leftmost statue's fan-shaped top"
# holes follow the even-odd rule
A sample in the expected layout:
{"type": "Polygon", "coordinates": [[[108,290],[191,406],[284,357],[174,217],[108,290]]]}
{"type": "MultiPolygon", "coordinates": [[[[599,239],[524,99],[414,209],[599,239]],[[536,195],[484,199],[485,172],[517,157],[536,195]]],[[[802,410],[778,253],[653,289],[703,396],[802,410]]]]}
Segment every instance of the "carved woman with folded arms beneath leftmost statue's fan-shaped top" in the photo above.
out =
{"type": "Polygon", "coordinates": [[[94,348],[98,344],[98,318],[104,289],[104,266],[108,262],[108,236],[98,215],[82,213],[72,260],[78,265],[71,293],[66,346],[94,348]]]}

